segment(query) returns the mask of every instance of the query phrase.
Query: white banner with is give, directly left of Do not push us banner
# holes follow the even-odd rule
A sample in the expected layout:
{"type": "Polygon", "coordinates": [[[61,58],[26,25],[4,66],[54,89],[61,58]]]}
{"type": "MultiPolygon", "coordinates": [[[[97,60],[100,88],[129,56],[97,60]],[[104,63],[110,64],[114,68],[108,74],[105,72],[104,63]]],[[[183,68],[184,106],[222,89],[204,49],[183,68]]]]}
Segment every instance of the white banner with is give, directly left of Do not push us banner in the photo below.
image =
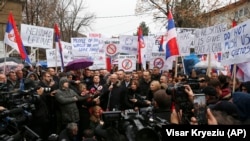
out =
{"type": "Polygon", "coordinates": [[[208,54],[221,52],[221,33],[227,30],[226,24],[218,24],[195,30],[195,53],[208,54]]]}

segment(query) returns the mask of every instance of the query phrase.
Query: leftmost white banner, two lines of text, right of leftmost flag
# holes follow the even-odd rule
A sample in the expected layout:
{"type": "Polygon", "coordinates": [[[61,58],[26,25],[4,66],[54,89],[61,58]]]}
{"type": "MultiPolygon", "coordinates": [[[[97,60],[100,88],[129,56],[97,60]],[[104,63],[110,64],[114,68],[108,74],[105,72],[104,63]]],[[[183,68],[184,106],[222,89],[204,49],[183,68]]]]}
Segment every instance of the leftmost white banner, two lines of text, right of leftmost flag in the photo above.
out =
{"type": "Polygon", "coordinates": [[[21,24],[21,37],[24,46],[53,48],[53,28],[21,24]]]}

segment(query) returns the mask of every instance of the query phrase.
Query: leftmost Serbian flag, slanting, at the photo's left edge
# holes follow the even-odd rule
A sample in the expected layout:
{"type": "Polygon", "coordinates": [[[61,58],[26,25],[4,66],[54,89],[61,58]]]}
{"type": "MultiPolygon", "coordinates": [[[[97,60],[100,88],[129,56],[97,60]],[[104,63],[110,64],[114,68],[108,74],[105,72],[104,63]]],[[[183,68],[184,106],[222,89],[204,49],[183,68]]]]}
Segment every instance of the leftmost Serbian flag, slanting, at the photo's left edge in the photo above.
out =
{"type": "Polygon", "coordinates": [[[9,13],[8,23],[6,26],[6,31],[4,35],[4,43],[16,49],[22,60],[31,65],[30,59],[27,55],[26,49],[24,48],[22,39],[16,27],[16,22],[12,15],[12,12],[9,13]]]}

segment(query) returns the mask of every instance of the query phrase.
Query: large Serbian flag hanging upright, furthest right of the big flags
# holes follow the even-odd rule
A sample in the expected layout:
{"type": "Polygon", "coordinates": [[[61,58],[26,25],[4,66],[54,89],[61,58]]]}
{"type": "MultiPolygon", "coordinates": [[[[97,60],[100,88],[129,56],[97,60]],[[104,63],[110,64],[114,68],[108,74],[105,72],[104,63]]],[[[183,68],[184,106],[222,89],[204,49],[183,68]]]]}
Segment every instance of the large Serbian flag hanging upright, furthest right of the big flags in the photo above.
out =
{"type": "Polygon", "coordinates": [[[168,26],[166,39],[166,59],[170,56],[179,55],[179,48],[177,44],[177,32],[175,29],[174,19],[171,11],[168,12],[168,26]]]}

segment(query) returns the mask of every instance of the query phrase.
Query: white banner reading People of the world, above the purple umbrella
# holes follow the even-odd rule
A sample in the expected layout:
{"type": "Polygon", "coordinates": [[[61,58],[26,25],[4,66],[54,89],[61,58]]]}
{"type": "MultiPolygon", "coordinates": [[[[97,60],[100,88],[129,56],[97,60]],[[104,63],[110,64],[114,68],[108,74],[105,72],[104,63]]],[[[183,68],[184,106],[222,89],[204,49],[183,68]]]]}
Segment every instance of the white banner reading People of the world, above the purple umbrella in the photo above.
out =
{"type": "Polygon", "coordinates": [[[89,53],[98,53],[100,41],[98,38],[71,38],[74,57],[86,57],[89,53]]]}

